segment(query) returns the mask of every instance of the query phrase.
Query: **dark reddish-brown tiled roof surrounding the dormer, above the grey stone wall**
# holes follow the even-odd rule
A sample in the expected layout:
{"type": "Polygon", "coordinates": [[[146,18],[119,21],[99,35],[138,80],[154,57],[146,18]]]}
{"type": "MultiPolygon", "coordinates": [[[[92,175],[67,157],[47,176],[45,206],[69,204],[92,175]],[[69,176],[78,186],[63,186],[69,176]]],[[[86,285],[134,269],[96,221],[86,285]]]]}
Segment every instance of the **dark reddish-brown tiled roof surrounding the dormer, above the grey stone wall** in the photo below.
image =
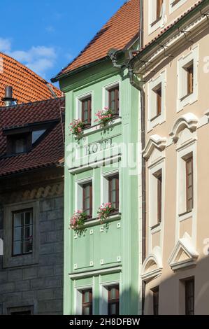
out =
{"type": "Polygon", "coordinates": [[[0,108],[0,176],[56,165],[64,158],[60,111],[64,112],[64,98],[0,108]],[[57,125],[29,153],[2,157],[6,155],[3,129],[50,120],[58,120],[57,125]]]}

